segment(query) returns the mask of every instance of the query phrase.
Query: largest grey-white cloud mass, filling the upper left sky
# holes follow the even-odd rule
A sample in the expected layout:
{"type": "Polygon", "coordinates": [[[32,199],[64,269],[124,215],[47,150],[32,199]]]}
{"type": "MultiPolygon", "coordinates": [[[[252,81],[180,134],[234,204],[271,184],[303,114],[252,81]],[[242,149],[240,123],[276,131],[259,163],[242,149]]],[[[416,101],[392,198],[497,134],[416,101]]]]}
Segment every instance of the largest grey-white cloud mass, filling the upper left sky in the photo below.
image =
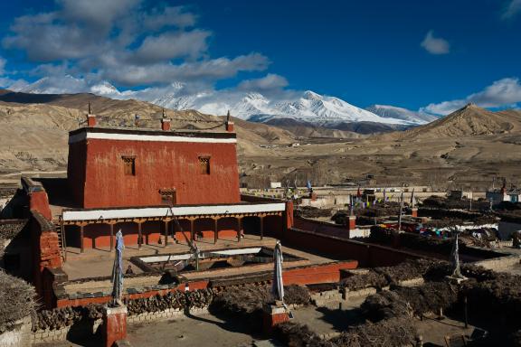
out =
{"type": "Polygon", "coordinates": [[[207,85],[270,64],[256,52],[211,58],[207,41],[212,33],[194,27],[197,16],[187,7],[145,9],[141,3],[56,0],[52,12],[15,18],[3,45],[42,63],[31,71],[35,76],[89,76],[92,83],[109,80],[128,87],[172,80],[207,85]]]}

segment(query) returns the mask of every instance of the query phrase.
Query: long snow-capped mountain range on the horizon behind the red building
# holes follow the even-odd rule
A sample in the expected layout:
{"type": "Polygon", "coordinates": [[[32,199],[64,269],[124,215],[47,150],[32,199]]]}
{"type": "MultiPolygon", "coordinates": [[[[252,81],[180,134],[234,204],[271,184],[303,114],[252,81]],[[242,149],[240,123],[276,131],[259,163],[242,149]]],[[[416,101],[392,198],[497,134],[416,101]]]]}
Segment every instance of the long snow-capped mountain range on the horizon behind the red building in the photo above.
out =
{"type": "Polygon", "coordinates": [[[357,108],[340,98],[323,96],[310,90],[281,92],[275,98],[268,98],[259,92],[194,89],[191,85],[174,82],[166,87],[119,91],[106,81],[89,83],[65,76],[60,83],[52,78],[44,78],[14,91],[41,94],[90,92],[109,98],[136,98],[165,108],[196,109],[212,115],[225,115],[230,110],[233,117],[255,122],[289,118],[321,127],[376,123],[390,128],[403,128],[425,124],[434,119],[404,108],[378,105],[368,109],[357,108]],[[56,85],[61,88],[53,87],[56,85]]]}

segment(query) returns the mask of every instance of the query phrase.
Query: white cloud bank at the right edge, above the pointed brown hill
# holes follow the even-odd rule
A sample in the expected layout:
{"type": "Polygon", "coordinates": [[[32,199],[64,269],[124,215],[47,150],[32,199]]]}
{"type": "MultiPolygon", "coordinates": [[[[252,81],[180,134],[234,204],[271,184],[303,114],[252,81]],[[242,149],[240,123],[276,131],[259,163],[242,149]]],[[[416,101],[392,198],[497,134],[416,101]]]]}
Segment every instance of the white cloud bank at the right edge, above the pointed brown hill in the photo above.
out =
{"type": "Polygon", "coordinates": [[[481,108],[515,108],[516,103],[521,102],[521,84],[519,83],[519,79],[507,78],[496,80],[487,88],[470,94],[467,98],[430,104],[425,108],[421,108],[421,111],[435,115],[448,115],[464,107],[469,102],[481,108]]]}

